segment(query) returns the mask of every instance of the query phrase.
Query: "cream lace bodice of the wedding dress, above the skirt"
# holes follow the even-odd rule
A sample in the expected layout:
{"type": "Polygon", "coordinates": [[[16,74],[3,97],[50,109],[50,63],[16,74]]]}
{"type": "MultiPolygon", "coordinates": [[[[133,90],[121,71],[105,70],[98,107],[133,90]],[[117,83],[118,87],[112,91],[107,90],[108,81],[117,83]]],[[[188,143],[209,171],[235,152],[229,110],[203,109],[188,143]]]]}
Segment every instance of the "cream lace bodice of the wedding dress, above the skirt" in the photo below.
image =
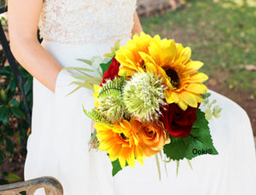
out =
{"type": "Polygon", "coordinates": [[[44,40],[102,43],[131,37],[137,0],[45,0],[39,20],[44,40]]]}

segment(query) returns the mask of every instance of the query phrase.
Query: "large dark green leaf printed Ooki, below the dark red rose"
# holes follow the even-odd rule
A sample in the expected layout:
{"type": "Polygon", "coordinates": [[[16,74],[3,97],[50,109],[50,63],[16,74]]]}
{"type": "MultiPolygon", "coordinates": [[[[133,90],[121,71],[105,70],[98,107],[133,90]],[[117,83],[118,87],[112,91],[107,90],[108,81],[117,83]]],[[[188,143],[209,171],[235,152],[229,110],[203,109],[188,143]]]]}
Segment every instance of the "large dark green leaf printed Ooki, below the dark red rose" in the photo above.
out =
{"type": "Polygon", "coordinates": [[[164,152],[168,158],[180,160],[183,158],[192,159],[207,153],[218,154],[212,144],[212,136],[205,113],[198,109],[196,115],[197,119],[189,136],[184,138],[171,136],[171,143],[164,147],[164,152]]]}

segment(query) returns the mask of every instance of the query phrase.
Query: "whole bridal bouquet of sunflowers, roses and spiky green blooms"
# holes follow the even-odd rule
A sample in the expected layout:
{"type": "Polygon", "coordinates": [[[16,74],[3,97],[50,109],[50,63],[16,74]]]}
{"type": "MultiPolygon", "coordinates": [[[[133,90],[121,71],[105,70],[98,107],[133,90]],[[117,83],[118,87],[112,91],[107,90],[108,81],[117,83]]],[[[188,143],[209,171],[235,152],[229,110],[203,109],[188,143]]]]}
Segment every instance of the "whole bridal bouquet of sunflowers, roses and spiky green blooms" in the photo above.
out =
{"type": "Polygon", "coordinates": [[[166,162],[218,154],[207,119],[218,118],[221,108],[211,108],[215,102],[203,84],[208,77],[198,72],[203,63],[190,59],[188,47],[141,33],[126,46],[116,43],[105,57],[96,68],[102,82],[84,78],[95,89],[95,109],[84,113],[96,122],[90,143],[108,152],[113,175],[136,161],[143,165],[144,158],[159,159],[162,152],[166,162]]]}

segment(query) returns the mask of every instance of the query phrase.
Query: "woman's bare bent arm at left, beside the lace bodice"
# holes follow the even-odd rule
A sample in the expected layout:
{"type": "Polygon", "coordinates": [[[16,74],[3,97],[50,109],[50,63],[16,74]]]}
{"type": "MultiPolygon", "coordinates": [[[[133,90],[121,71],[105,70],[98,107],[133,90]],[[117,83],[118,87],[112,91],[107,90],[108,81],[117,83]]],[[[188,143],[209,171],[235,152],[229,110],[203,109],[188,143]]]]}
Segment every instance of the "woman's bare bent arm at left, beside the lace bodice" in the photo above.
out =
{"type": "Polygon", "coordinates": [[[10,49],[27,72],[51,91],[61,66],[38,42],[38,21],[43,0],[9,0],[10,49]]]}

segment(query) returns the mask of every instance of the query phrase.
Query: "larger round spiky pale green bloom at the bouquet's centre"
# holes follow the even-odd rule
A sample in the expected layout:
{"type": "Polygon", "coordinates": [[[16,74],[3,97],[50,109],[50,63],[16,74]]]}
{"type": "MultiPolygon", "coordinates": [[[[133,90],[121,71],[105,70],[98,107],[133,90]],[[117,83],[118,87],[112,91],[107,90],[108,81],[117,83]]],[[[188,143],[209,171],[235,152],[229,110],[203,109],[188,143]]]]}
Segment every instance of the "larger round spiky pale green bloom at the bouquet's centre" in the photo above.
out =
{"type": "Polygon", "coordinates": [[[126,110],[134,118],[153,121],[160,115],[160,106],[165,105],[162,80],[151,72],[137,72],[123,89],[126,110]]]}

